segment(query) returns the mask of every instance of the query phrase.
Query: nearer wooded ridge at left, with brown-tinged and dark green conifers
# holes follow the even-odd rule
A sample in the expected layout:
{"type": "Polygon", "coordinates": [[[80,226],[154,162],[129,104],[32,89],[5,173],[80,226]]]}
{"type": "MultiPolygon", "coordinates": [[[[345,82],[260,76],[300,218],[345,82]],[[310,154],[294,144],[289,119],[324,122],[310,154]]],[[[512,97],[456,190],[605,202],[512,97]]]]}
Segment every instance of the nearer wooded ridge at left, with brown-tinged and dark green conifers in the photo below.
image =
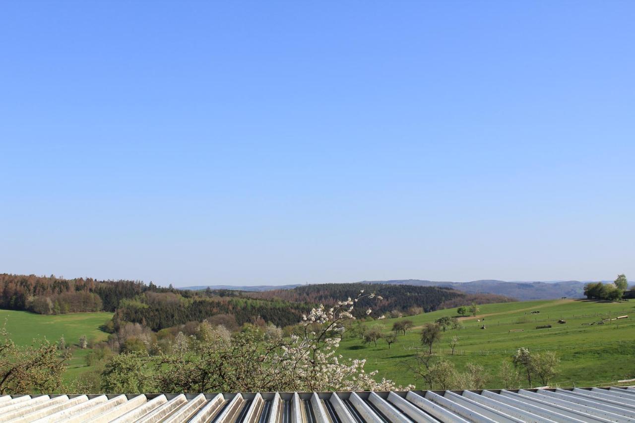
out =
{"type": "Polygon", "coordinates": [[[217,314],[231,315],[237,325],[260,319],[285,326],[297,323],[302,313],[311,309],[305,303],[251,299],[231,290],[195,292],[141,281],[64,279],[53,275],[0,274],[0,292],[2,309],[38,314],[103,310],[116,312],[115,323],[141,323],[152,330],[202,321],[217,314]]]}

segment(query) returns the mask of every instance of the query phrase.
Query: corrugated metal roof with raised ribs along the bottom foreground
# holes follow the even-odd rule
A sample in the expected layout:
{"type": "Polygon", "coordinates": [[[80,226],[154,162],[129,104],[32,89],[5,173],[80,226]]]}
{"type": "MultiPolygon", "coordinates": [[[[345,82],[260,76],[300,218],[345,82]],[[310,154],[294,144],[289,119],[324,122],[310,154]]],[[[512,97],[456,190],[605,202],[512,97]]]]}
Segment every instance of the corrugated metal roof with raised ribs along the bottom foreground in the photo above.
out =
{"type": "Polygon", "coordinates": [[[0,396],[3,422],[635,422],[635,388],[0,396]]]}

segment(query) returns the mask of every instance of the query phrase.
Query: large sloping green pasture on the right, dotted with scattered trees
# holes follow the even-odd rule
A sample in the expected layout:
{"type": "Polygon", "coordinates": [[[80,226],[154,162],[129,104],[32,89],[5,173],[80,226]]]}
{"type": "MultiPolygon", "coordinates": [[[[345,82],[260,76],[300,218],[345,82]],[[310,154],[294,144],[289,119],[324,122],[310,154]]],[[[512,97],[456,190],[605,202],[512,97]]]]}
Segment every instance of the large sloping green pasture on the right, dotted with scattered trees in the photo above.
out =
{"type": "MultiPolygon", "coordinates": [[[[556,351],[561,359],[561,373],[553,382],[560,386],[592,386],[635,377],[635,302],[549,300],[486,304],[480,309],[476,317],[460,318],[463,329],[448,329],[443,333],[435,352],[453,361],[459,369],[469,362],[485,366],[493,375],[488,387],[500,387],[496,370],[518,347],[556,351]],[[533,310],[540,314],[530,314],[533,310]],[[625,314],[629,315],[628,319],[605,325],[582,325],[625,314]],[[566,323],[556,323],[558,319],[565,319],[566,323]],[[486,325],[485,330],[481,325],[486,325]],[[537,325],[552,325],[552,328],[536,329],[537,325]],[[509,332],[516,329],[523,332],[509,332]],[[459,337],[454,356],[448,346],[453,336],[459,337]]],[[[366,368],[379,370],[379,377],[424,388],[408,371],[408,365],[413,362],[413,356],[422,351],[420,327],[442,316],[458,316],[457,309],[403,318],[413,321],[415,329],[400,335],[391,349],[383,340],[375,347],[363,344],[360,339],[346,339],[340,344],[339,352],[344,358],[366,358],[366,368]]],[[[385,332],[389,332],[395,321],[403,319],[382,321],[385,332]]]]}

